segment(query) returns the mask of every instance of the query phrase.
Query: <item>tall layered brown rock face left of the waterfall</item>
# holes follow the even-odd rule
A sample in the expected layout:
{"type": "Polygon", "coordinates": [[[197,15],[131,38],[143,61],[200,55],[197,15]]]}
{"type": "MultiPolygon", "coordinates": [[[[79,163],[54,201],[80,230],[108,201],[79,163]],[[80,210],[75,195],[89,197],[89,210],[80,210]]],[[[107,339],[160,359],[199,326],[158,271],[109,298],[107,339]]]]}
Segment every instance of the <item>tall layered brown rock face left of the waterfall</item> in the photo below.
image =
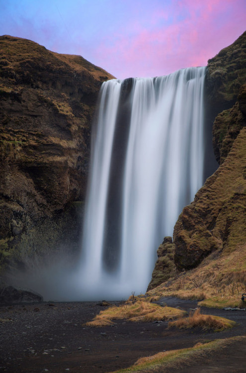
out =
{"type": "Polygon", "coordinates": [[[101,83],[81,56],[0,37],[0,266],[78,243],[101,83]]]}

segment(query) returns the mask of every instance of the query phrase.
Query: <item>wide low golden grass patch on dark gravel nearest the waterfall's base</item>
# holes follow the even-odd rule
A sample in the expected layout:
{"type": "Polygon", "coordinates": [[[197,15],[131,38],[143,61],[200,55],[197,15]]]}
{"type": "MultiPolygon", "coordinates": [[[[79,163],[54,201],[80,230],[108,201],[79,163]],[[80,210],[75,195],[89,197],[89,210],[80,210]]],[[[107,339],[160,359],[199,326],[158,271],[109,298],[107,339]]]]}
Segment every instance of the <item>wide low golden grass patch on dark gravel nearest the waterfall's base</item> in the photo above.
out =
{"type": "Polygon", "coordinates": [[[185,312],[177,308],[162,307],[158,304],[148,301],[137,300],[135,303],[126,302],[121,306],[112,306],[94,317],[92,321],[87,322],[87,326],[106,326],[111,325],[111,320],[127,319],[133,322],[152,322],[171,320],[183,315],[185,312]]]}

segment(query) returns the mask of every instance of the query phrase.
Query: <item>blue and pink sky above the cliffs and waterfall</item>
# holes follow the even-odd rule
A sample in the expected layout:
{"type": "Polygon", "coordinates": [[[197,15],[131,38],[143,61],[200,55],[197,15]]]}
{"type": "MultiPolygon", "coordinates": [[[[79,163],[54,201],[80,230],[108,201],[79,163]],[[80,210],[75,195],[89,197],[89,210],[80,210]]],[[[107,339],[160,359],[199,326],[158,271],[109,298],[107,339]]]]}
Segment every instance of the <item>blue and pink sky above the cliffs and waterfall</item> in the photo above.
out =
{"type": "Polygon", "coordinates": [[[205,66],[246,30],[246,0],[0,0],[0,35],[78,54],[119,79],[205,66]]]}

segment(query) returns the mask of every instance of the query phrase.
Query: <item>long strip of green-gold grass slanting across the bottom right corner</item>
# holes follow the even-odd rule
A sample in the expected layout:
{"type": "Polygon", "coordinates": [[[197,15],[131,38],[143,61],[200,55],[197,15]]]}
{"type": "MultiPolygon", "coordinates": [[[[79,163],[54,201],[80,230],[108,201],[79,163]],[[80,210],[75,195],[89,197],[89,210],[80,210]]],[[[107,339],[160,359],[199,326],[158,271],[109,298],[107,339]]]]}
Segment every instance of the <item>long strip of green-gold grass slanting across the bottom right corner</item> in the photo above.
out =
{"type": "Polygon", "coordinates": [[[245,343],[246,337],[239,336],[227,339],[215,340],[209,343],[197,343],[194,347],[159,352],[156,355],[148,356],[137,360],[137,362],[126,369],[121,369],[111,373],[131,373],[131,372],[163,372],[169,373],[173,368],[189,366],[194,359],[199,357],[206,358],[211,356],[212,351],[223,349],[224,347],[233,347],[236,342],[245,343]]]}

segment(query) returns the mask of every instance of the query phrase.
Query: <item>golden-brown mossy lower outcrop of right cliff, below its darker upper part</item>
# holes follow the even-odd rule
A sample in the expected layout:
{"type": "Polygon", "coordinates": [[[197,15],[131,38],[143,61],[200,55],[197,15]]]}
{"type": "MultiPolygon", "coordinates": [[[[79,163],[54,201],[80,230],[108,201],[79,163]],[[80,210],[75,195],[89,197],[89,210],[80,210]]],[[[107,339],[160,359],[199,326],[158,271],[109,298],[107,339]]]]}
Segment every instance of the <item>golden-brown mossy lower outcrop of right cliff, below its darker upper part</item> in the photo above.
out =
{"type": "Polygon", "coordinates": [[[186,206],[174,227],[178,269],[197,266],[215,250],[234,250],[246,242],[246,128],[215,174],[186,206]]]}

